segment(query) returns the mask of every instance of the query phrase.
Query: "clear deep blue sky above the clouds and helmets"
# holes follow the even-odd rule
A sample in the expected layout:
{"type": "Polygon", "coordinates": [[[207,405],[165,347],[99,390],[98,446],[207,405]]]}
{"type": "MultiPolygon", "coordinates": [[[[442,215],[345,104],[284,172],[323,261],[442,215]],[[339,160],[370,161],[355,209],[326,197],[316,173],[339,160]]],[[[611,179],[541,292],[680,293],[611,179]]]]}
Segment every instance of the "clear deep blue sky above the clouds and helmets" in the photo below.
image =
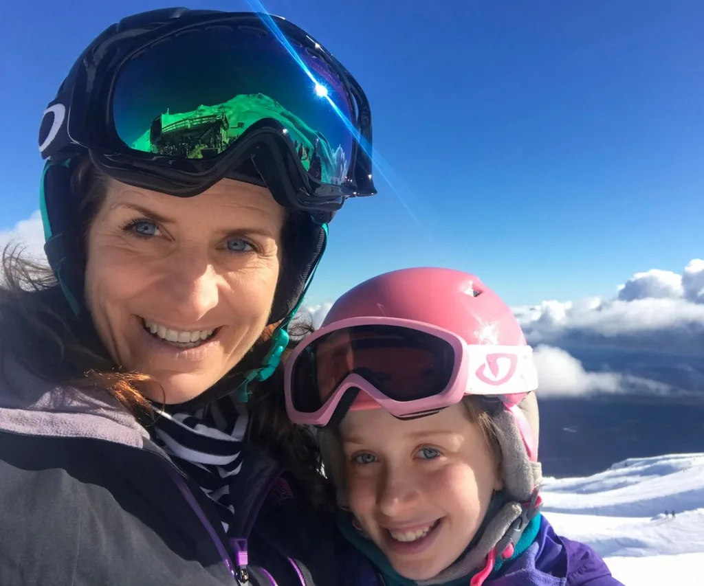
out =
{"type": "MultiPolygon", "coordinates": [[[[4,7],[0,231],[37,209],[39,121],[75,57],[115,20],[164,6],[4,7]]],[[[363,84],[377,178],[391,182],[378,179],[379,195],[334,219],[310,302],[413,265],[475,272],[512,305],[610,295],[634,272],[681,272],[703,255],[700,0],[265,6],[363,84]]]]}

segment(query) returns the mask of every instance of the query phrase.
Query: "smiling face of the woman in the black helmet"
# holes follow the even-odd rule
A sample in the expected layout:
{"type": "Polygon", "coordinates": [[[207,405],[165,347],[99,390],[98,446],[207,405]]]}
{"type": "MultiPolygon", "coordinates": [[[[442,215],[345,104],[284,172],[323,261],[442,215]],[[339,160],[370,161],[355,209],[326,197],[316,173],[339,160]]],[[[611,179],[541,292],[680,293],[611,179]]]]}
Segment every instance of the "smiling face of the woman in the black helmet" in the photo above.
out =
{"type": "Polygon", "coordinates": [[[88,234],[86,299],[115,362],[161,385],[144,390],[151,399],[193,399],[256,342],[283,226],[269,191],[240,181],[192,198],[108,182],[88,234]]]}

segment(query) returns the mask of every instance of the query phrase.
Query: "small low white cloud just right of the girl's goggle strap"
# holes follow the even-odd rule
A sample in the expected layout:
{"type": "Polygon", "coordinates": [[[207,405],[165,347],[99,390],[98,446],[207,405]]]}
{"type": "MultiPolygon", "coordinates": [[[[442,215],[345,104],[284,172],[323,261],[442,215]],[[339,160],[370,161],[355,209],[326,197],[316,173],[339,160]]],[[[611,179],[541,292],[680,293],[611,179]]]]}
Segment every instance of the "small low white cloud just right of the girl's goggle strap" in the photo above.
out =
{"type": "Polygon", "coordinates": [[[569,352],[540,345],[534,350],[540,397],[570,397],[592,393],[666,394],[669,385],[616,372],[587,372],[569,352]]]}

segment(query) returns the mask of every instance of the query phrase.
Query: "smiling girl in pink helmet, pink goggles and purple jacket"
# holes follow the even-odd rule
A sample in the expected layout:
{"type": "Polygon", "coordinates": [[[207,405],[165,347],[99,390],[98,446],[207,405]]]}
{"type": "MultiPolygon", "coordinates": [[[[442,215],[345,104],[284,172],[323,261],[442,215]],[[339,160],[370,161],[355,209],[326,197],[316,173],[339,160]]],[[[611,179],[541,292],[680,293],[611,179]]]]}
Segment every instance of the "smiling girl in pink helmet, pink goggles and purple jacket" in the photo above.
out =
{"type": "Polygon", "coordinates": [[[374,568],[362,583],[619,584],[540,513],[532,349],[476,277],[360,284],[285,374],[289,416],[320,427],[339,528],[361,554],[351,567],[374,568]]]}

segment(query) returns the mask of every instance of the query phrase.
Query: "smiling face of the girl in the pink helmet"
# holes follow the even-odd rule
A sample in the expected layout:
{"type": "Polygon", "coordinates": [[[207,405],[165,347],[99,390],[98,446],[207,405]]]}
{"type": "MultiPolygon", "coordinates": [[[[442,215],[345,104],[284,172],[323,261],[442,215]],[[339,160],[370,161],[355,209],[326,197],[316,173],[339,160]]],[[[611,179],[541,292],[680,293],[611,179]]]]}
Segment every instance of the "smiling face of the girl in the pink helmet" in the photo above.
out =
{"type": "Polygon", "coordinates": [[[434,578],[470,544],[501,488],[482,429],[460,403],[407,421],[351,411],[341,435],[351,511],[399,574],[434,578]]]}

